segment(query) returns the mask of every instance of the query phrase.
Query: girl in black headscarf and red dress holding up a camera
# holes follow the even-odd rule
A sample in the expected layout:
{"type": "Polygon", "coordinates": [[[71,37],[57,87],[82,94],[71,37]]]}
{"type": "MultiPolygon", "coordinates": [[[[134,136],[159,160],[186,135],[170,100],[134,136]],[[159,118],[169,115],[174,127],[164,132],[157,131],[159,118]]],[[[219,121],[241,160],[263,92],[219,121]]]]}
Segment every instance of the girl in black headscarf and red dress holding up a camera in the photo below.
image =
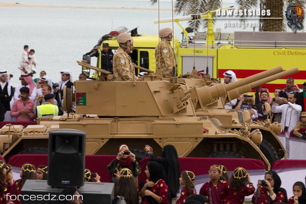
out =
{"type": "Polygon", "coordinates": [[[258,188],[252,197],[254,204],[272,204],[275,202],[287,202],[286,190],[281,188],[282,181],[275,171],[267,171],[265,186],[258,180],[258,188]]]}

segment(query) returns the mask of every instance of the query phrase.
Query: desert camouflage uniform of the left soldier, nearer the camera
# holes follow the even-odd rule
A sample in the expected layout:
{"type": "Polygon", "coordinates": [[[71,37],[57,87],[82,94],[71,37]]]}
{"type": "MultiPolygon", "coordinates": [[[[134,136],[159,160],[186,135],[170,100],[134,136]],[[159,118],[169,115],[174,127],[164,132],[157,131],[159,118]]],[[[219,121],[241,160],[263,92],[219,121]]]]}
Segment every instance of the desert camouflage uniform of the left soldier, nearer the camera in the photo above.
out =
{"type": "MultiPolygon", "coordinates": [[[[113,57],[113,70],[115,81],[132,81],[134,74],[134,65],[131,57],[121,48],[115,52],[113,57]]],[[[135,76],[135,81],[138,77],[135,76]]]]}

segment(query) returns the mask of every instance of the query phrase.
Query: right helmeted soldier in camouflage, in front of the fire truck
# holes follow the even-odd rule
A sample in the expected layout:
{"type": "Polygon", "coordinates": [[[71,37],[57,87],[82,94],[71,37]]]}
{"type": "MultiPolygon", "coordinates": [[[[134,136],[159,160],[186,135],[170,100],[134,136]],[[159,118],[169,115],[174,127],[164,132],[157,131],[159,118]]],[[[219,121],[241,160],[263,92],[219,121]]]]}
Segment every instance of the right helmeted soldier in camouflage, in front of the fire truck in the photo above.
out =
{"type": "Polygon", "coordinates": [[[161,76],[170,78],[172,76],[172,68],[175,67],[173,49],[170,45],[173,38],[171,28],[163,28],[159,31],[161,41],[155,48],[156,67],[162,70],[161,76]]]}

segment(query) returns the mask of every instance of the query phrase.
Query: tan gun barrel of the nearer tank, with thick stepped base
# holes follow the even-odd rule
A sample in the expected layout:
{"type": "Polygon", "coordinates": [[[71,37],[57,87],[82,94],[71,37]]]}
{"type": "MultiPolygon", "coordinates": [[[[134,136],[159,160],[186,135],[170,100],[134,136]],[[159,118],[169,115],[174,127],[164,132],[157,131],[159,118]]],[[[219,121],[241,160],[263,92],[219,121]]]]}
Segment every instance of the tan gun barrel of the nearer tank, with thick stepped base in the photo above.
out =
{"type": "Polygon", "coordinates": [[[282,71],[282,66],[279,66],[229,84],[218,83],[217,85],[212,87],[193,87],[193,91],[196,93],[197,98],[199,99],[198,102],[202,103],[200,105],[207,106],[216,102],[217,98],[226,96],[227,92],[233,89],[256,82],[258,80],[274,75],[276,73],[280,73],[282,71]]]}

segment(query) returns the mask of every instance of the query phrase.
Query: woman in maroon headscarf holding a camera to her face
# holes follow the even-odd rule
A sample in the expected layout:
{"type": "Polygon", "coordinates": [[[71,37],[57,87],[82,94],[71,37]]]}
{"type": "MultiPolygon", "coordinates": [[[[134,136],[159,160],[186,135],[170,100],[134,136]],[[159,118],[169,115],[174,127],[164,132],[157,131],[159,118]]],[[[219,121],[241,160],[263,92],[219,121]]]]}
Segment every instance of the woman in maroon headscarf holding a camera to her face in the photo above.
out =
{"type": "Polygon", "coordinates": [[[135,154],[129,151],[129,147],[125,144],[119,146],[117,157],[107,166],[107,170],[112,177],[112,183],[118,182],[119,171],[123,168],[128,168],[132,171],[135,181],[141,172],[135,154]]]}

